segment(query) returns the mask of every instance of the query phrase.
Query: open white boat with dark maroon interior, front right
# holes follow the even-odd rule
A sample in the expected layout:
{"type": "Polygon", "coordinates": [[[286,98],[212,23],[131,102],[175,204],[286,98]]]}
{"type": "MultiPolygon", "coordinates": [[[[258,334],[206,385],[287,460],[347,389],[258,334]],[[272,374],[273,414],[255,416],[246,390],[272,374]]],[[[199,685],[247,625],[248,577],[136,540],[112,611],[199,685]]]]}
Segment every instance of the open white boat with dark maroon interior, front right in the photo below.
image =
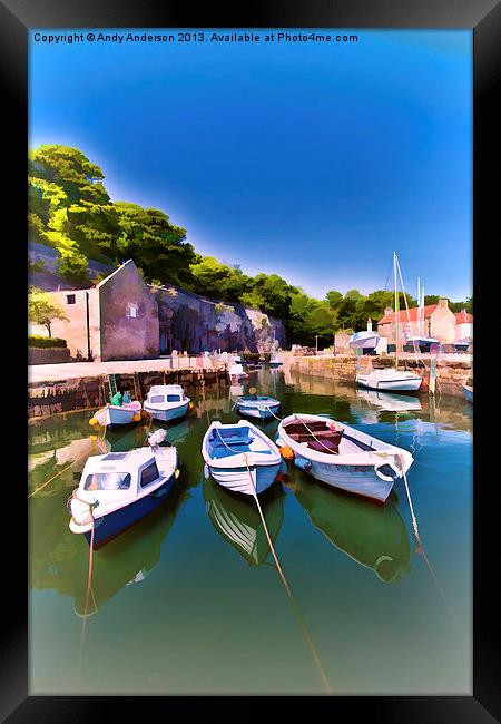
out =
{"type": "Polygon", "coordinates": [[[277,444],[294,464],[322,482],[384,502],[413,462],[410,452],[317,414],[291,414],[278,424],[277,444]]]}

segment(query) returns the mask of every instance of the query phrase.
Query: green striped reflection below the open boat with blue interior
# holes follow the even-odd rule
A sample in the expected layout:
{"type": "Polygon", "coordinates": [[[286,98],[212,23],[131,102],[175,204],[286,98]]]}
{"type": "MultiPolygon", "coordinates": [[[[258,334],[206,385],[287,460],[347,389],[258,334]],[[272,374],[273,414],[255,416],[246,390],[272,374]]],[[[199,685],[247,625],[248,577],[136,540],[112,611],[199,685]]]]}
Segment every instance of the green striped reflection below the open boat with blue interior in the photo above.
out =
{"type": "MultiPolygon", "coordinates": [[[[210,479],[203,480],[207,515],[217,532],[227,540],[249,566],[261,566],[269,545],[253,500],[225,490],[210,479]]],[[[269,537],[275,542],[284,519],[284,491],[272,486],[259,497],[269,537]]]]}

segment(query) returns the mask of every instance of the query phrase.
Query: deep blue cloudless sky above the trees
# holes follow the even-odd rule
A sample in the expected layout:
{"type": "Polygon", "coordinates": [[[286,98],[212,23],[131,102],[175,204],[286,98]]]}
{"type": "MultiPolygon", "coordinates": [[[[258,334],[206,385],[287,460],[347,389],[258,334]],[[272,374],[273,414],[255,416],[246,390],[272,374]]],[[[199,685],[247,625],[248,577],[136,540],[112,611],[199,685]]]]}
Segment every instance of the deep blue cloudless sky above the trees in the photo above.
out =
{"type": "Polygon", "coordinates": [[[114,200],[161,208],[246,273],[367,293],[391,288],[395,248],[407,291],[421,276],[463,300],[471,32],[350,32],[356,45],[32,40],[30,147],[80,148],[114,200]]]}

